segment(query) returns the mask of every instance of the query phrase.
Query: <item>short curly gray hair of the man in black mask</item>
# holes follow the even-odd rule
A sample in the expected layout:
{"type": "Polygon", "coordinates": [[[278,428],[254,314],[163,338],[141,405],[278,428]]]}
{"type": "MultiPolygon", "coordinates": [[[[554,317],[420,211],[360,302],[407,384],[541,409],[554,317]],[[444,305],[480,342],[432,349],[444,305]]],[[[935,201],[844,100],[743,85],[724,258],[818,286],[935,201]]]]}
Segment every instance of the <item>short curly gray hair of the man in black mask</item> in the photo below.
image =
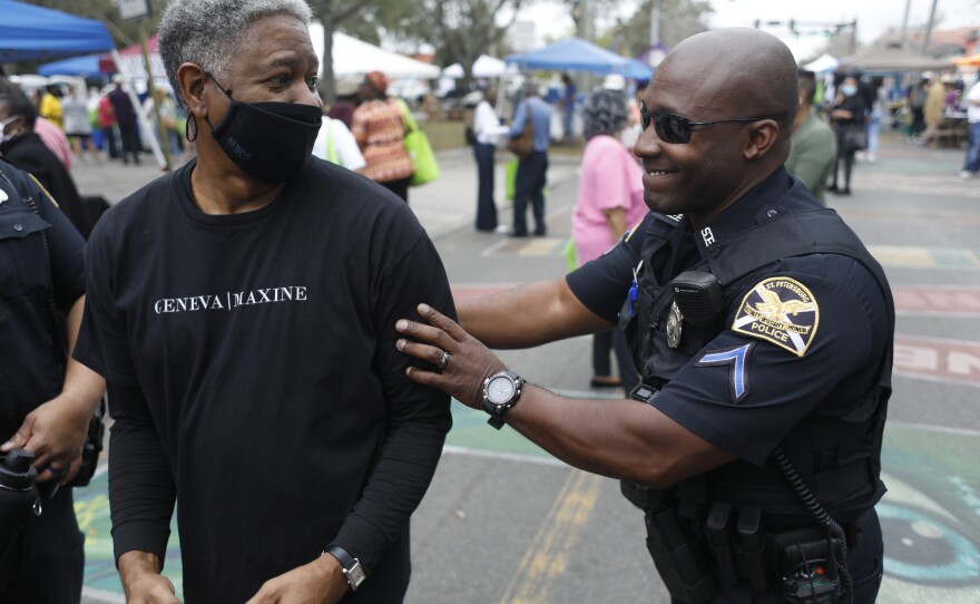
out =
{"type": "Polygon", "coordinates": [[[226,76],[228,62],[247,41],[245,35],[252,25],[281,13],[310,22],[305,0],[170,0],[160,21],[159,47],[180,108],[187,110],[177,82],[182,64],[195,62],[215,76],[226,76]]]}

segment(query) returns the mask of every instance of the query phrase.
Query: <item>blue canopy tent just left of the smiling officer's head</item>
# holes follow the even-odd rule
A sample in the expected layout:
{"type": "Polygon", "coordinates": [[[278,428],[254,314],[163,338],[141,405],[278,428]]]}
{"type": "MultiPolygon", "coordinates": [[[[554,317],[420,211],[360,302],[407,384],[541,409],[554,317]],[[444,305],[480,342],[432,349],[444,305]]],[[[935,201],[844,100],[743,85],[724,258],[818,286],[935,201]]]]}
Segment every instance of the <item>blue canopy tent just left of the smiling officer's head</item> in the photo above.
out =
{"type": "Polygon", "coordinates": [[[628,57],[620,57],[581,38],[568,38],[538,50],[522,55],[510,55],[504,61],[508,65],[518,66],[521,70],[619,74],[636,79],[649,79],[654,72],[649,68],[637,69],[637,67],[646,66],[628,57]]]}

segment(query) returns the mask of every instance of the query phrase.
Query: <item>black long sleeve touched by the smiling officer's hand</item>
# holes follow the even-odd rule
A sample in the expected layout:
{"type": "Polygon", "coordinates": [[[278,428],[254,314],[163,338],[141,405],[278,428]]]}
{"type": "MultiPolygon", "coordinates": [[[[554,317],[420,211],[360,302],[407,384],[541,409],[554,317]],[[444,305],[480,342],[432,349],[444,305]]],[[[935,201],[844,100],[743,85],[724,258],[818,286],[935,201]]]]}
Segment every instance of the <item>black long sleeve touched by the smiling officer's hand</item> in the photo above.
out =
{"type": "Polygon", "coordinates": [[[394,324],[419,320],[421,302],[457,318],[442,262],[424,234],[378,283],[372,294],[379,325],[374,366],[384,389],[388,435],[360,501],[331,543],[359,558],[369,575],[425,495],[452,426],[450,397],[405,376],[410,363],[421,363],[395,350],[394,324]]]}

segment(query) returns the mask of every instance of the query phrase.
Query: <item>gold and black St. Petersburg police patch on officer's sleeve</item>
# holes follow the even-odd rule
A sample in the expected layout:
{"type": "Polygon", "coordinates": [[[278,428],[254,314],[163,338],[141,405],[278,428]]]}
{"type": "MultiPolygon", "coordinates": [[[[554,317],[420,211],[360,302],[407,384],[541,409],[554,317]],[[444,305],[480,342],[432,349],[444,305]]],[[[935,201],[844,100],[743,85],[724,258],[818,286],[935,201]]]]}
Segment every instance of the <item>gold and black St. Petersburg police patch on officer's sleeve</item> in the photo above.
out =
{"type": "Polygon", "coordinates": [[[819,323],[820,305],[810,290],[795,279],[774,276],[745,294],[732,329],[803,357],[819,323]]]}

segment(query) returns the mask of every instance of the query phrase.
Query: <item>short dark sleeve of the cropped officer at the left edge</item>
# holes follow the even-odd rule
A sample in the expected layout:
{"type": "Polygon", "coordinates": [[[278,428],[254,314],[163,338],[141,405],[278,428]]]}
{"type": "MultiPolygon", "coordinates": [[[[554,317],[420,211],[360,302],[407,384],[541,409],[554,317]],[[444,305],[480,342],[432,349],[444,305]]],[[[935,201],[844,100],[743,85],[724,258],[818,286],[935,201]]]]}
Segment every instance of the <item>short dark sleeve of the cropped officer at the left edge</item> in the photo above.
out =
{"type": "Polygon", "coordinates": [[[51,260],[51,283],[55,302],[68,311],[85,293],[85,240],[48,193],[32,176],[26,176],[27,192],[38,213],[51,227],[46,233],[51,260]]]}

